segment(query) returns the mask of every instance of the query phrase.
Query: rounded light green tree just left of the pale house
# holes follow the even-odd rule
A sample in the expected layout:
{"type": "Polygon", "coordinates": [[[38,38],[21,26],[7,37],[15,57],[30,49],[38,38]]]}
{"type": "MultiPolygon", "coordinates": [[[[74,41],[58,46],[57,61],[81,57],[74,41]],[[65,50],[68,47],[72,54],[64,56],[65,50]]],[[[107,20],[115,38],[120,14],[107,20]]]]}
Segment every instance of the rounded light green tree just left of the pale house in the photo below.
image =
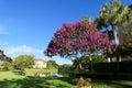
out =
{"type": "Polygon", "coordinates": [[[31,55],[20,55],[14,61],[14,66],[21,70],[32,68],[34,65],[34,57],[31,55]]]}

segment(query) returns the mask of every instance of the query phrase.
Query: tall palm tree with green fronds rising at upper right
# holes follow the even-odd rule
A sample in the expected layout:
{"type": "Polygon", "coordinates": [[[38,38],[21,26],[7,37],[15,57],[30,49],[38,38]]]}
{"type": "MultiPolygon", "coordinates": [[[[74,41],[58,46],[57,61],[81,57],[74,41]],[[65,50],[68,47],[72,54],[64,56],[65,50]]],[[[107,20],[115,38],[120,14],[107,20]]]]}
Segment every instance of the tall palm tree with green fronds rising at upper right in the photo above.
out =
{"type": "Polygon", "coordinates": [[[109,31],[110,40],[114,40],[117,44],[117,28],[128,23],[131,19],[132,15],[129,8],[119,0],[112,0],[110,3],[102,6],[96,22],[99,29],[108,28],[109,25],[112,28],[112,32],[109,31]]]}

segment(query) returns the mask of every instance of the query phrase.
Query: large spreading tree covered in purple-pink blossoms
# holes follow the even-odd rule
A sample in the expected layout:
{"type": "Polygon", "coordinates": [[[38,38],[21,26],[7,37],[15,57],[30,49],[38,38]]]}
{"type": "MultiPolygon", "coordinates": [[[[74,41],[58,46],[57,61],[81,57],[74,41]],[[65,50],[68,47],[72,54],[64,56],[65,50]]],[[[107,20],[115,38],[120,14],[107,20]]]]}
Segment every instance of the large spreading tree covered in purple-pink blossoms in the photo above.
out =
{"type": "Polygon", "coordinates": [[[99,32],[95,23],[78,21],[76,23],[64,23],[54,33],[44,54],[47,56],[59,55],[65,58],[88,55],[91,61],[94,53],[105,53],[111,46],[107,33],[99,32]]]}

